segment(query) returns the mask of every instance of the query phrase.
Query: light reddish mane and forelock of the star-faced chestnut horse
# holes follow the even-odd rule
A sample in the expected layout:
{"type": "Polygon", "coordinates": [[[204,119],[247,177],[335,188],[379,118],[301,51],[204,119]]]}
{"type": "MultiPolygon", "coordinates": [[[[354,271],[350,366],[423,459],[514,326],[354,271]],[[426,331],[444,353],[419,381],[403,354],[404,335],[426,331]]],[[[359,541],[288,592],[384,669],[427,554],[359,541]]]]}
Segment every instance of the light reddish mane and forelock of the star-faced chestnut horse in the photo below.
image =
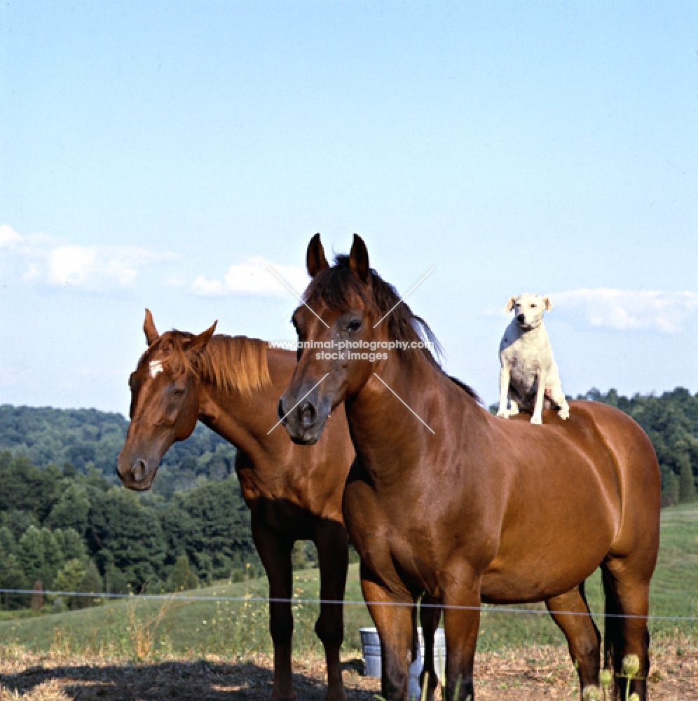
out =
{"type": "Polygon", "coordinates": [[[192,357],[186,352],[191,339],[193,334],[172,329],[160,336],[149,350],[158,348],[166,353],[165,360],[174,364],[175,372],[194,373],[224,392],[251,395],[271,385],[266,341],[217,334],[203,351],[192,357]]]}

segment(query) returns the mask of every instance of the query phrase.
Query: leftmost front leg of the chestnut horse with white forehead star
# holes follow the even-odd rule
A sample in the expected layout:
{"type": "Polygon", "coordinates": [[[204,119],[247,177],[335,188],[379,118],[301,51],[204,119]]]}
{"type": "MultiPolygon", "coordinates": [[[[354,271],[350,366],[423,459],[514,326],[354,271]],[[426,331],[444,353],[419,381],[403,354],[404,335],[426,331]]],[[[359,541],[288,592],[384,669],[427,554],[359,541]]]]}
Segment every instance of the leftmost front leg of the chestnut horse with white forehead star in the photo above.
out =
{"type": "Polygon", "coordinates": [[[280,538],[261,519],[252,517],[252,537],[269,580],[269,629],[274,644],[274,686],[272,701],[296,698],[291,677],[291,639],[293,636],[292,540],[280,538]],[[274,601],[273,599],[282,599],[274,601]]]}

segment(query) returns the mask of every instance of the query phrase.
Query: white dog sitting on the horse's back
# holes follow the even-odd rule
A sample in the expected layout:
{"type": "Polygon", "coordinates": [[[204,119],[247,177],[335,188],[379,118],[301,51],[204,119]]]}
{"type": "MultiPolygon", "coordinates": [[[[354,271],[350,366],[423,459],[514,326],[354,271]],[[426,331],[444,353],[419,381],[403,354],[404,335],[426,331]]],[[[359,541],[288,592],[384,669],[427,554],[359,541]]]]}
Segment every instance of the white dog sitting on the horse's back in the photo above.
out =
{"type": "Polygon", "coordinates": [[[509,418],[519,407],[531,411],[531,423],[543,423],[545,397],[560,418],[569,418],[570,407],[562,391],[550,339],[543,326],[543,312],[552,309],[549,297],[521,294],[510,297],[505,307],[514,309],[514,320],[502,336],[499,359],[499,411],[497,416],[509,418]],[[507,409],[507,398],[511,407],[507,409]]]}

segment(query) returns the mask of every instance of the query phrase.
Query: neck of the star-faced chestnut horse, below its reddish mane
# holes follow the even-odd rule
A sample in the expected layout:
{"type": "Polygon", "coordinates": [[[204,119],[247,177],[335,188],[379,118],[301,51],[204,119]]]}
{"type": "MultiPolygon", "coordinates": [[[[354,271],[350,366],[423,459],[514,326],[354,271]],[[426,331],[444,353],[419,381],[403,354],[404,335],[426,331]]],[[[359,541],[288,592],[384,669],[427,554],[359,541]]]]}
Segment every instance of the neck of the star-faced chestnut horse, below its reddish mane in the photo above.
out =
{"type": "Polygon", "coordinates": [[[278,421],[279,397],[291,380],[296,360],[294,353],[274,351],[267,354],[267,362],[271,384],[249,394],[224,390],[208,380],[201,383],[200,421],[253,461],[255,456],[273,450],[285,433],[282,426],[271,429],[278,421]]]}

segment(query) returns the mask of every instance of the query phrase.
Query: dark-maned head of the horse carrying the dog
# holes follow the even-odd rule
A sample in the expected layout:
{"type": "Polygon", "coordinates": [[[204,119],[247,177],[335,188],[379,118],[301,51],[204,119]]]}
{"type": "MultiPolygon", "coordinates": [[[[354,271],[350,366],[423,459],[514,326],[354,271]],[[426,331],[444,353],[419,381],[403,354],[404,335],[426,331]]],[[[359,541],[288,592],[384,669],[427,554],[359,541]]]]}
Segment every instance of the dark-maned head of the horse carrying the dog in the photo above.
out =
{"type": "MultiPolygon", "coordinates": [[[[423,341],[423,322],[371,270],[366,245],[356,234],[349,255],[337,256],[331,267],[316,234],[308,245],[306,266],[312,280],[305,304],[292,317],[299,362],[278,412],[291,439],[310,445],[338,404],[355,397],[367,383],[378,383],[374,372],[380,376],[389,358],[396,357],[391,342],[423,341]]],[[[423,331],[432,338],[426,325],[423,331]]],[[[414,347],[406,353],[424,352],[414,347]]]]}

